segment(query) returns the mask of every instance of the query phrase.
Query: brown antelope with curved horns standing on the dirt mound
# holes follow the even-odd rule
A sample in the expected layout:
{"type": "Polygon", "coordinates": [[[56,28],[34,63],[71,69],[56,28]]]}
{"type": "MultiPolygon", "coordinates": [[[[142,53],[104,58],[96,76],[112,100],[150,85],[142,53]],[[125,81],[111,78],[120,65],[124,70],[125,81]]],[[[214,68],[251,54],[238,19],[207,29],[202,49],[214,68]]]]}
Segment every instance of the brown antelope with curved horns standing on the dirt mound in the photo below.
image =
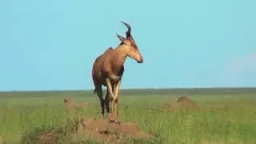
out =
{"type": "Polygon", "coordinates": [[[138,50],[134,38],[130,34],[131,27],[126,22],[122,22],[126,27],[126,38],[116,34],[121,43],[113,49],[108,48],[103,54],[95,59],[92,68],[92,78],[94,81],[94,94],[97,92],[101,103],[102,115],[104,118],[104,110],[109,115],[109,122],[118,121],[118,92],[122,82],[122,75],[124,73],[124,63],[126,58],[130,57],[138,63],[143,63],[142,54],[138,50]],[[106,97],[103,99],[102,86],[106,86],[106,97]],[[115,109],[114,109],[115,106],[115,109]],[[114,111],[114,118],[112,113],[114,111]]]}

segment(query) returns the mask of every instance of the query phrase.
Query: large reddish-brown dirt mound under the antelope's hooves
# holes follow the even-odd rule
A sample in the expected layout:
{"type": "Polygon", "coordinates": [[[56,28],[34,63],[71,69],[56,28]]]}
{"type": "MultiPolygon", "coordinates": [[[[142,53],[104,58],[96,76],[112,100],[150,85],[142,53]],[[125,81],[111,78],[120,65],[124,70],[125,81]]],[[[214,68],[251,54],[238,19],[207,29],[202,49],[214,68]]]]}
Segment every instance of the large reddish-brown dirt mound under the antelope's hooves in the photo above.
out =
{"type": "Polygon", "coordinates": [[[73,143],[107,141],[124,142],[129,138],[153,138],[138,128],[134,122],[122,122],[120,125],[109,123],[106,119],[74,118],[51,130],[34,130],[22,137],[22,143],[73,143]],[[86,141],[84,141],[86,140],[86,141]]]}

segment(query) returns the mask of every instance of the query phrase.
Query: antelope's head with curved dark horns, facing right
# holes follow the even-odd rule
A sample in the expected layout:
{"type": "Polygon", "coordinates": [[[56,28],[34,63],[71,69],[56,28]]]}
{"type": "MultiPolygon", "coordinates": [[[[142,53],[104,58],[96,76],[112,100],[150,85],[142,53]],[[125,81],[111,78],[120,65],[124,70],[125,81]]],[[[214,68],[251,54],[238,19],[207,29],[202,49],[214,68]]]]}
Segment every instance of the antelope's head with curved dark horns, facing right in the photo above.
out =
{"type": "Polygon", "coordinates": [[[138,50],[138,47],[137,47],[136,43],[134,42],[134,38],[130,34],[130,31],[131,31],[130,25],[128,25],[126,22],[122,22],[122,23],[128,29],[126,31],[126,38],[123,38],[121,35],[118,35],[118,34],[117,34],[117,36],[120,39],[120,41],[122,42],[121,45],[124,45],[123,47],[125,47],[126,56],[133,58],[138,63],[143,63],[142,54],[138,50]]]}

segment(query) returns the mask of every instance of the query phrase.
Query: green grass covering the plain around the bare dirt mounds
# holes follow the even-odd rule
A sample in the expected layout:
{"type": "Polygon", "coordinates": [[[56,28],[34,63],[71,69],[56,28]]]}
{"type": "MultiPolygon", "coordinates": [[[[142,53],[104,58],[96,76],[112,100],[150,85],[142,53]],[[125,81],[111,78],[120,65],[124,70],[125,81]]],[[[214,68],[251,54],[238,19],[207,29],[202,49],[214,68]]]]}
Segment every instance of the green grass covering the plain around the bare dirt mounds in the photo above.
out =
{"type": "MultiPolygon", "coordinates": [[[[121,120],[137,122],[153,133],[154,143],[256,143],[255,89],[123,90],[120,104],[121,120]],[[163,102],[183,94],[198,102],[201,110],[160,109],[163,102]]],[[[99,117],[98,108],[92,90],[0,93],[0,143],[19,143],[23,134],[50,130],[70,117],[99,117]],[[69,96],[76,102],[91,102],[94,109],[66,111],[63,99],[69,96]]]]}

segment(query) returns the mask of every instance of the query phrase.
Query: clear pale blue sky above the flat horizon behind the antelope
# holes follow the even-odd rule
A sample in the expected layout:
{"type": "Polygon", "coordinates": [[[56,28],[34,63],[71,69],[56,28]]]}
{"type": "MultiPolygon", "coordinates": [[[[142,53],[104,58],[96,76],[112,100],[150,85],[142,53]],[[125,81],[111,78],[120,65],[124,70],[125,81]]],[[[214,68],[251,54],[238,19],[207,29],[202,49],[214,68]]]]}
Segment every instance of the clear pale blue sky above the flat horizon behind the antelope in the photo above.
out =
{"type": "Polygon", "coordinates": [[[256,86],[256,1],[0,1],[0,90],[92,89],[115,33],[132,34],[122,88],[256,86]]]}

